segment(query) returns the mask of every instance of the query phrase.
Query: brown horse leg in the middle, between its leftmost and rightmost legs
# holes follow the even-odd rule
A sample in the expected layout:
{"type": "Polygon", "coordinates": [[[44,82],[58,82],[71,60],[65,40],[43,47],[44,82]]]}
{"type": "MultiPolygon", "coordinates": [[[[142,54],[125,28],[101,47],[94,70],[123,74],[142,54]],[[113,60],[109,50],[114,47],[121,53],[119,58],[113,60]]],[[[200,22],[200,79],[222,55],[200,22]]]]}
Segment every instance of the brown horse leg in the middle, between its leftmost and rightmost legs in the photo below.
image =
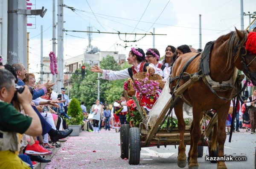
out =
{"type": "Polygon", "coordinates": [[[202,112],[193,107],[193,123],[190,132],[191,145],[190,145],[190,159],[189,159],[189,169],[199,169],[198,158],[198,141],[201,137],[201,121],[202,112]]]}

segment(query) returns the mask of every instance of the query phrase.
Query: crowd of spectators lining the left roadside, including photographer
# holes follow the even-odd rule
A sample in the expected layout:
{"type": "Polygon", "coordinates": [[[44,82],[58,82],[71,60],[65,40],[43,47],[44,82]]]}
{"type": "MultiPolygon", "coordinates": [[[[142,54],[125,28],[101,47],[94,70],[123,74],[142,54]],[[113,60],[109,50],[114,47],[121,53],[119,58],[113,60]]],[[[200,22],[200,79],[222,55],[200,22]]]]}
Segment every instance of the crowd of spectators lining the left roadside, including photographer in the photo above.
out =
{"type": "Polygon", "coordinates": [[[35,75],[20,63],[0,66],[1,169],[29,169],[36,162],[51,162],[43,157],[73,131],[64,124],[64,118],[70,119],[69,100],[52,92],[55,83],[35,82],[35,75]]]}

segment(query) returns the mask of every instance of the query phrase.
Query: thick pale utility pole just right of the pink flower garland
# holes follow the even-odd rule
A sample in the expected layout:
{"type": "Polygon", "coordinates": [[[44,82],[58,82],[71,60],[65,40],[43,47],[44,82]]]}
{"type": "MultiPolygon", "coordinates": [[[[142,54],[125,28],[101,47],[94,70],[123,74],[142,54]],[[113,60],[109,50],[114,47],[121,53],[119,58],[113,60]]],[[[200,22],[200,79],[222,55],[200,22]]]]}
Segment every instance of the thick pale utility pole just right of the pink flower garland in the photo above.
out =
{"type": "Polygon", "coordinates": [[[58,0],[58,79],[57,92],[61,93],[63,87],[63,0],[58,0]]]}

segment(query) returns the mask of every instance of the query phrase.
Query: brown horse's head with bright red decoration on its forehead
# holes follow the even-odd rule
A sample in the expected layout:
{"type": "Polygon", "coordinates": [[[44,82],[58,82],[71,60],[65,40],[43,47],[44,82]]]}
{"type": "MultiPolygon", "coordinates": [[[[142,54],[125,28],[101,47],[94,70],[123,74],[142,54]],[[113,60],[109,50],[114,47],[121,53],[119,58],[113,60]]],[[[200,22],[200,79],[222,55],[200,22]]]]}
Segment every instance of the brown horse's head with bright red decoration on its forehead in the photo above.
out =
{"type": "Polygon", "coordinates": [[[236,29],[236,34],[241,42],[238,49],[240,64],[242,64],[240,70],[242,70],[253,85],[256,86],[256,29],[249,34],[244,34],[236,29]]]}

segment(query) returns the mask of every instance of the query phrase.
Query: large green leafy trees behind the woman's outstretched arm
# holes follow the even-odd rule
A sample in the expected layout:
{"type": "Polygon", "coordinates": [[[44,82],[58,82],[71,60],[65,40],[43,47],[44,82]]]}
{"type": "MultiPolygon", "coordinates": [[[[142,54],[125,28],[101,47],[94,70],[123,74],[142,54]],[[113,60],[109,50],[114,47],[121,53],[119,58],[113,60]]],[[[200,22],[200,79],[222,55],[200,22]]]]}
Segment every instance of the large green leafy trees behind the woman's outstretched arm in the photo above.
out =
{"type": "MultiPolygon", "coordinates": [[[[129,67],[131,65],[127,62],[121,68],[113,56],[109,55],[100,62],[100,68],[105,70],[121,70],[129,67]]],[[[73,87],[70,89],[70,96],[79,101],[84,101],[87,110],[89,110],[98,96],[98,73],[91,72],[89,70],[90,65],[88,64],[85,65],[85,68],[86,76],[84,79],[81,79],[80,74],[71,76],[73,87]]],[[[79,72],[81,72],[81,69],[79,69],[79,72]]],[[[100,79],[100,101],[113,103],[113,101],[120,99],[124,81],[125,79],[114,81],[100,79]]]]}

